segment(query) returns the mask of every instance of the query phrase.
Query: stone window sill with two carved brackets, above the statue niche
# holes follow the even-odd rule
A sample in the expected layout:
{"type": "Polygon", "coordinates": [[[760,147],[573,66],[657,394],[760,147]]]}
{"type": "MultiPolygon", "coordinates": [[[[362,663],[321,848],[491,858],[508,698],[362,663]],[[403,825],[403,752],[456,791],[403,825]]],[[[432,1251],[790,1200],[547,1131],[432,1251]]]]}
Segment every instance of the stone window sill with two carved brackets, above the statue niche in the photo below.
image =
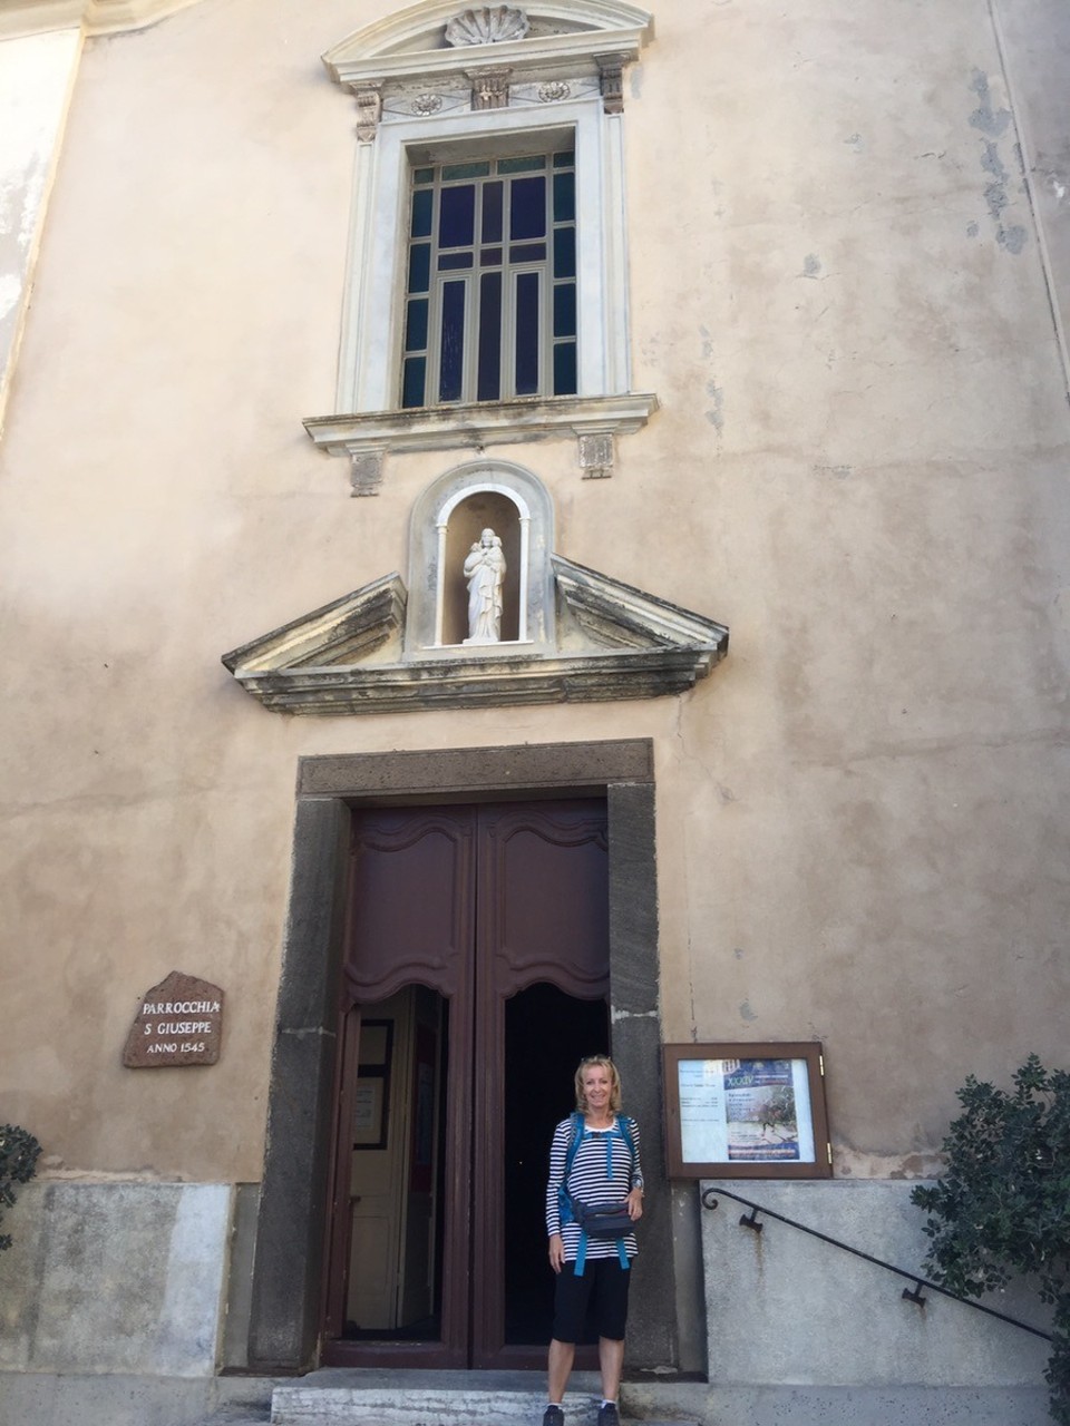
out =
{"type": "Polygon", "coordinates": [[[478,451],[518,441],[574,436],[585,478],[612,473],[613,438],[641,431],[658,409],[649,392],[619,396],[532,396],[522,401],[421,406],[310,416],[304,428],[320,449],[352,461],[354,495],[375,495],[387,455],[408,451],[478,451]]]}

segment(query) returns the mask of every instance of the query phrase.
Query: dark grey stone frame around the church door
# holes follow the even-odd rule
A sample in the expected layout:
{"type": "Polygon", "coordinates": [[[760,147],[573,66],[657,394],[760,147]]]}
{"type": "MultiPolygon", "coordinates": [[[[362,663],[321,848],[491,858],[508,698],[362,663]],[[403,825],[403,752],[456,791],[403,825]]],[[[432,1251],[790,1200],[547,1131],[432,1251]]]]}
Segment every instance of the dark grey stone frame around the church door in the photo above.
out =
{"type": "Polygon", "coordinates": [[[643,1127],[649,1211],[628,1359],[662,1370],[679,1365],[672,1202],[661,1132],[653,746],[635,739],[300,760],[253,1271],[251,1369],[302,1372],[317,1362],[350,810],[568,794],[606,799],[613,1058],[628,1111],[643,1127]]]}

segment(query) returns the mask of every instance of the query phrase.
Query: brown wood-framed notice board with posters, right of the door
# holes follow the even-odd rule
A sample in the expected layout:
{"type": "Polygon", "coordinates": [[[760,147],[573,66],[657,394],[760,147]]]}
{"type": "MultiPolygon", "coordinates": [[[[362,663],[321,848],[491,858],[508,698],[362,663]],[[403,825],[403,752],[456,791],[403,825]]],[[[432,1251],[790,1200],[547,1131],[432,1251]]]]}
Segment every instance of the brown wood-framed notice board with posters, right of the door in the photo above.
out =
{"type": "Polygon", "coordinates": [[[832,1178],[819,1041],[662,1045],[669,1178],[832,1178]]]}

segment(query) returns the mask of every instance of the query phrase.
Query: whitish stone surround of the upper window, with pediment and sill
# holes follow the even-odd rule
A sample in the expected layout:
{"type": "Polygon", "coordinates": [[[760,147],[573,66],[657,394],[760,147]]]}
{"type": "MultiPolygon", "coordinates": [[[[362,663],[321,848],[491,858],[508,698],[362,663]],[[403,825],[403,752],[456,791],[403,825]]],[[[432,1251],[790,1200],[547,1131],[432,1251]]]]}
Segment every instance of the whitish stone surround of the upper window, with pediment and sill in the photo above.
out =
{"type": "Polygon", "coordinates": [[[474,439],[571,434],[579,438],[585,473],[605,475],[612,438],[639,429],[658,405],[653,395],[631,391],[623,114],[622,101],[606,101],[599,83],[599,71],[615,66],[619,76],[638,57],[652,29],[649,14],[612,0],[532,6],[532,19],[571,29],[504,44],[405,48],[417,43],[421,24],[428,31],[457,10],[429,0],[324,56],[332,77],[357,94],[361,113],[374,116],[357,145],[338,414],[305,421],[317,445],[352,458],[355,493],[375,492],[389,451],[471,446],[474,439]],[[375,46],[381,53],[368,54],[375,46]],[[515,97],[505,107],[472,108],[468,76],[488,64],[508,71],[515,97]],[[447,101],[434,113],[414,113],[419,84],[447,101]],[[402,409],[409,165],[454,145],[472,155],[512,144],[549,147],[562,131],[574,135],[576,155],[578,394],[402,409]]]}

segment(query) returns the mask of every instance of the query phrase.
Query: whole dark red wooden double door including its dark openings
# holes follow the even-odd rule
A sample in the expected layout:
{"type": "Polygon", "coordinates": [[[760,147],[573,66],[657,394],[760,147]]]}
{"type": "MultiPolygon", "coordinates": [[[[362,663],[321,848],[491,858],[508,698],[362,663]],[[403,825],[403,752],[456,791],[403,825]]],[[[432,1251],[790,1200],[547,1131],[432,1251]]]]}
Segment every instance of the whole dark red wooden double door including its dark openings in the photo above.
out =
{"type": "Polygon", "coordinates": [[[608,995],[602,800],[354,813],[325,1363],[545,1360],[549,1139],[608,995]]]}

